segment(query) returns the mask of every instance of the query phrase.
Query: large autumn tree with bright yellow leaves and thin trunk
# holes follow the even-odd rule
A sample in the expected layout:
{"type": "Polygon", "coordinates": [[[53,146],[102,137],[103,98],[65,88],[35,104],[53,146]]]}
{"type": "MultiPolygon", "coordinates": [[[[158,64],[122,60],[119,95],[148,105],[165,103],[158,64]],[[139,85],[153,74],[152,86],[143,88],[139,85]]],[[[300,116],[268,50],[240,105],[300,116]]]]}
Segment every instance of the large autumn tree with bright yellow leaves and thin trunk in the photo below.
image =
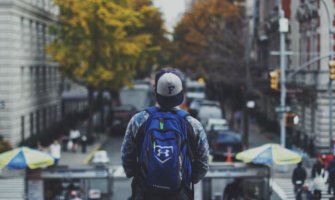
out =
{"type": "MultiPolygon", "coordinates": [[[[117,92],[130,84],[139,69],[156,62],[156,39],[151,21],[160,15],[148,0],[54,0],[60,8],[55,36],[48,46],[63,76],[86,86],[92,113],[93,91],[117,92]],[[149,60],[150,58],[150,60],[149,60]]],[[[155,35],[158,34],[158,35],[155,35]]],[[[158,40],[158,39],[157,39],[158,40]]],[[[89,121],[90,134],[91,120],[89,121]]]]}

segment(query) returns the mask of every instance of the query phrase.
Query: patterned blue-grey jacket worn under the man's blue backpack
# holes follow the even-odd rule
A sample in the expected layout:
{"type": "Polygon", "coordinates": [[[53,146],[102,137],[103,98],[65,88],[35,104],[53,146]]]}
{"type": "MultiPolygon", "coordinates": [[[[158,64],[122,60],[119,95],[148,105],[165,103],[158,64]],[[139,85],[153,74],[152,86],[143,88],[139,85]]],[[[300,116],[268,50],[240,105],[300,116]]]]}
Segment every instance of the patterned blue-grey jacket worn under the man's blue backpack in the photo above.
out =
{"type": "MultiPolygon", "coordinates": [[[[139,112],[135,114],[128,123],[124,140],[121,146],[121,160],[122,166],[128,178],[134,177],[132,182],[133,199],[148,199],[143,198],[143,190],[141,187],[141,178],[136,177],[136,170],[138,169],[137,155],[136,151],[136,135],[139,132],[140,127],[149,118],[149,113],[146,111],[139,112]],[[135,194],[134,194],[135,193],[135,194]]],[[[195,152],[192,152],[194,162],[192,163],[192,182],[195,184],[200,181],[201,178],[205,176],[208,171],[208,141],[207,136],[202,127],[201,123],[191,116],[187,116],[186,120],[190,123],[193,128],[194,139],[195,139],[195,152]]],[[[182,196],[185,194],[182,194],[182,196]]],[[[191,194],[191,196],[193,196],[191,194]]],[[[155,197],[156,199],[159,197],[155,197]]],[[[172,198],[172,197],[170,197],[172,198]]],[[[178,197],[173,197],[174,199],[179,199],[178,197]]],[[[162,198],[160,198],[162,199],[162,198]]],[[[180,199],[192,199],[190,198],[180,198],[180,199]]]]}

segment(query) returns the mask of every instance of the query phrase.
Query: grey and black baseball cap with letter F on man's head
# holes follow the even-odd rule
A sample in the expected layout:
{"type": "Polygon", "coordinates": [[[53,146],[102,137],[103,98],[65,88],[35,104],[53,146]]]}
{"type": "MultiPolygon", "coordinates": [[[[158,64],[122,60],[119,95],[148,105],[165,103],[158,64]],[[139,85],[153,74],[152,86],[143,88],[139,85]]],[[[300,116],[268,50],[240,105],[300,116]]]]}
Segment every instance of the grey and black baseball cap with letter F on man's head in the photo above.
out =
{"type": "Polygon", "coordinates": [[[183,83],[176,70],[158,71],[155,76],[155,85],[157,102],[162,108],[173,108],[183,102],[183,83]]]}

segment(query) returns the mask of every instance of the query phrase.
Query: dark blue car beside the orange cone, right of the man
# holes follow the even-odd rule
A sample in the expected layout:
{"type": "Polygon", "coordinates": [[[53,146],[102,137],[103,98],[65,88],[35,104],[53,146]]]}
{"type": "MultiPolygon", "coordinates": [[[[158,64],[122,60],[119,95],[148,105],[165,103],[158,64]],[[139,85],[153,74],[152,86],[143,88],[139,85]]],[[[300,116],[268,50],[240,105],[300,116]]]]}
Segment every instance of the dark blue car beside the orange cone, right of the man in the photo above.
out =
{"type": "Polygon", "coordinates": [[[217,132],[211,136],[209,143],[213,161],[227,161],[228,156],[236,161],[236,154],[243,151],[241,134],[232,130],[217,132]]]}

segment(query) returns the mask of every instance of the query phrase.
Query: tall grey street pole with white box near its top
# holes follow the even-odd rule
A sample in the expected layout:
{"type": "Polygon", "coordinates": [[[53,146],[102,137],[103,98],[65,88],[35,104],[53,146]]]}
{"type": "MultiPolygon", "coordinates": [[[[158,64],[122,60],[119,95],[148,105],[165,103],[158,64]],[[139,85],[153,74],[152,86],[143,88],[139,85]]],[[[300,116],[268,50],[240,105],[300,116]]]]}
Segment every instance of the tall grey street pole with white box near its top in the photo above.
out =
{"type": "Polygon", "coordinates": [[[286,99],[286,47],[285,33],[288,32],[288,20],[285,18],[284,10],[282,9],[281,1],[279,1],[279,36],[280,36],[280,144],[285,147],[286,144],[286,129],[285,129],[285,99],[286,99]]]}

